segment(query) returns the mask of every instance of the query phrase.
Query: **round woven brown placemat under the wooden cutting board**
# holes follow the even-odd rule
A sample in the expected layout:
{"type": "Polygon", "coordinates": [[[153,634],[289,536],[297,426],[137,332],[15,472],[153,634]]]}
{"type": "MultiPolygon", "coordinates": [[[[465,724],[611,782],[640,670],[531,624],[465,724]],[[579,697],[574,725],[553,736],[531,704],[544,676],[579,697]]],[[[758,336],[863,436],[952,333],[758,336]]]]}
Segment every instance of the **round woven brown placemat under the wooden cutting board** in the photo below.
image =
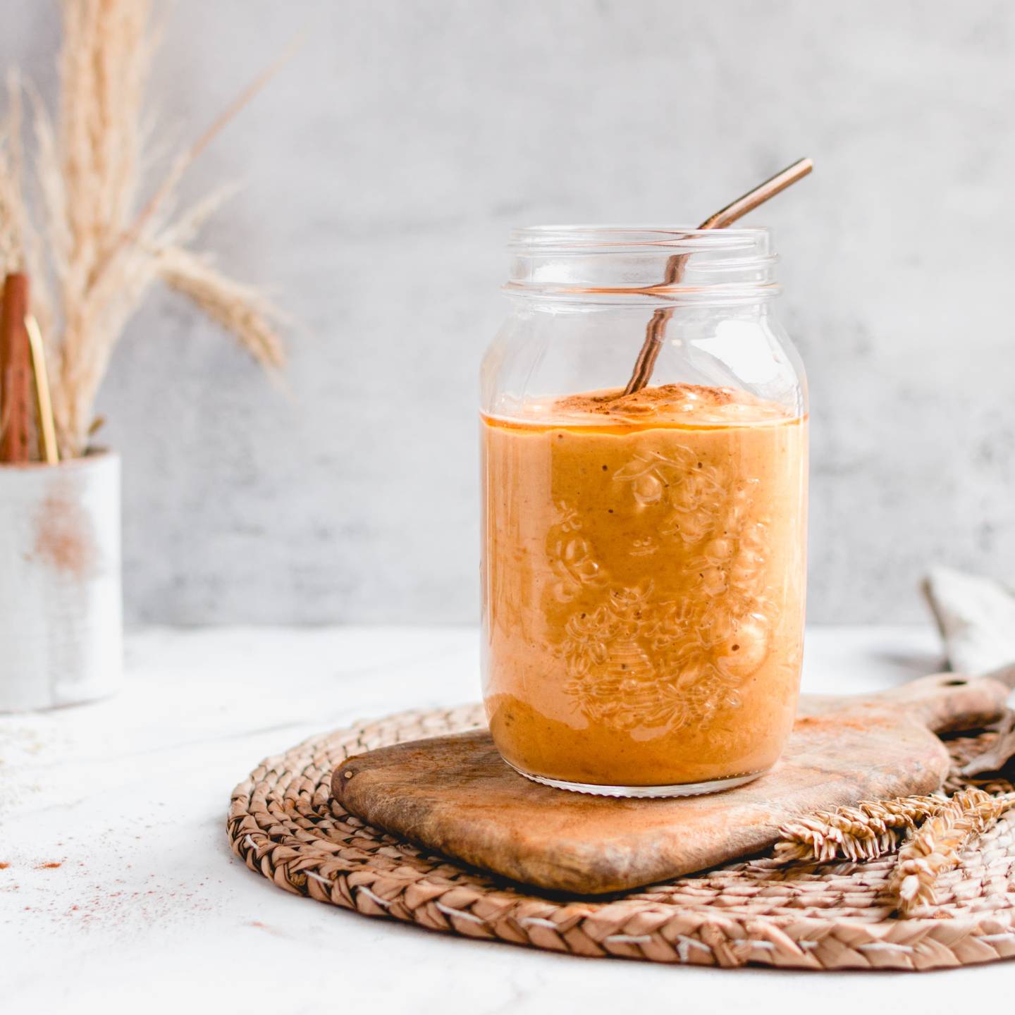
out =
{"type": "MultiPolygon", "coordinates": [[[[1015,956],[1015,810],[941,876],[933,906],[896,919],[885,891],[891,857],[820,866],[759,858],[620,897],[560,898],[388,835],[331,800],[331,770],[349,755],[484,722],[478,704],[406,712],[267,758],[232,793],[232,851],[296,895],[574,955],[799,969],[932,969],[1015,956]]],[[[983,741],[949,746],[961,760],[983,741]]]]}

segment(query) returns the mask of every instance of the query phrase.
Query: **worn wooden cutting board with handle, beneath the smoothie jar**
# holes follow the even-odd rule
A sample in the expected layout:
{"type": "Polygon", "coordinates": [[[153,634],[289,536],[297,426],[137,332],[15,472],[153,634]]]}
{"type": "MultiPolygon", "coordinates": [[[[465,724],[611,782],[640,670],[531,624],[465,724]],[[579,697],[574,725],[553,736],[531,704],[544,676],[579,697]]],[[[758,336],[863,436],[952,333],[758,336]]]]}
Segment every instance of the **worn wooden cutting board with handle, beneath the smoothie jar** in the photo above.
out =
{"type": "Polygon", "coordinates": [[[513,880],[620,891],[764,850],[794,817],[939,789],[949,762],[935,734],[994,722],[1009,693],[946,673],[871,697],[804,695],[779,764],[703,797],[617,800],[540,786],[507,767],[486,731],[350,757],[332,793],[371,825],[513,880]]]}

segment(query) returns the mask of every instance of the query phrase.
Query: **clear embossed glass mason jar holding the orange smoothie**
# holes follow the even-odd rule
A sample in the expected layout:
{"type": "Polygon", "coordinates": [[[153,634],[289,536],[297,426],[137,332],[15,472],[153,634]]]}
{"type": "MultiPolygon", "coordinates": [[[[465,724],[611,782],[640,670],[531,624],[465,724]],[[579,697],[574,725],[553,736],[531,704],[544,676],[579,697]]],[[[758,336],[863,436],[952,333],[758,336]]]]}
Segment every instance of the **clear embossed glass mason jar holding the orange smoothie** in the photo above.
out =
{"type": "Polygon", "coordinates": [[[769,233],[545,226],[511,250],[482,367],[497,749],[606,796],[755,779],[793,727],[806,563],[806,382],[769,233]]]}

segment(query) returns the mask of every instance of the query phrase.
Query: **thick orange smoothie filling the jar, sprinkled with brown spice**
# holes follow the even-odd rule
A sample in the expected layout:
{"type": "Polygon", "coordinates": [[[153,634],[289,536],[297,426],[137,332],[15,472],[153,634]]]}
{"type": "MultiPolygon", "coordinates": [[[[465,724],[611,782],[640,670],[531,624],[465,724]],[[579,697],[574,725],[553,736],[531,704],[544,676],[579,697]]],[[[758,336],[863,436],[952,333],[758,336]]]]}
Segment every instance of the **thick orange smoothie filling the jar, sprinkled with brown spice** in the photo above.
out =
{"type": "Polygon", "coordinates": [[[807,422],[665,385],[483,417],[486,709],[522,772],[738,780],[793,726],[807,422]]]}

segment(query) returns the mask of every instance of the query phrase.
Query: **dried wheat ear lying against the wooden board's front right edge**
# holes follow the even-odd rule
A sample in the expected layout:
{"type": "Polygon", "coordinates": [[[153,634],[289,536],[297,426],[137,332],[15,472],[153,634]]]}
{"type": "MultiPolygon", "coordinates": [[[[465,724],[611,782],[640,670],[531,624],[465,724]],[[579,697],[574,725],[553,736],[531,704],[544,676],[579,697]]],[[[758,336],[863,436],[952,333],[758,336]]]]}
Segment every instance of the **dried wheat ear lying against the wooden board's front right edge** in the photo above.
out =
{"type": "Polygon", "coordinates": [[[817,811],[784,824],[775,858],[788,863],[874,860],[893,853],[909,832],[947,804],[941,796],[865,800],[856,807],[817,811]]]}

